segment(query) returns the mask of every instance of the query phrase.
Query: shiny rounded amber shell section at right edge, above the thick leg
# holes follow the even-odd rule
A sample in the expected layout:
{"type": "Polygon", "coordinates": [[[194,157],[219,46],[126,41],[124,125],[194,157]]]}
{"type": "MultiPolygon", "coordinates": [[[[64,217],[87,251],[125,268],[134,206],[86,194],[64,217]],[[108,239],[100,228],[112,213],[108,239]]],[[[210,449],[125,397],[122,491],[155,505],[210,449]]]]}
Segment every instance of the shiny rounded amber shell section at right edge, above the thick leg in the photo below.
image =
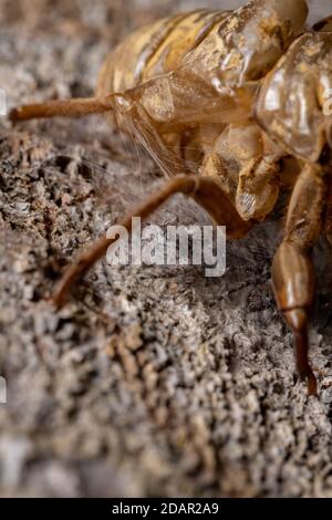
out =
{"type": "Polygon", "coordinates": [[[268,74],[256,112],[267,133],[292,155],[315,163],[326,143],[332,92],[332,32],[299,38],[268,74]]]}

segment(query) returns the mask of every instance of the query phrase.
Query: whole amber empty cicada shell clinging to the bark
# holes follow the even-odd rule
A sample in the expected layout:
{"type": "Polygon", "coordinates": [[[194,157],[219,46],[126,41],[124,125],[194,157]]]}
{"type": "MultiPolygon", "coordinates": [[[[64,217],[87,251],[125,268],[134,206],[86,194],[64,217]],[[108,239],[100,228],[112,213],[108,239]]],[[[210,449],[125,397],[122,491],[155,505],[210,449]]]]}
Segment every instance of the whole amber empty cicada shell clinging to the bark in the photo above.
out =
{"type": "MultiPolygon", "coordinates": [[[[183,193],[238,239],[272,211],[292,169],[284,233],[272,264],[276,300],[293,331],[310,395],[314,298],[311,252],[332,230],[331,17],[305,27],[305,0],[252,0],[236,11],[198,10],[129,35],[105,60],[96,97],[14,108],[10,118],[103,113],[141,142],[169,178],[120,222],[149,216],[183,193]],[[193,147],[196,148],[193,154],[193,147]]],[[[61,306],[74,281],[113,242],[102,237],[55,288],[61,306]]]]}

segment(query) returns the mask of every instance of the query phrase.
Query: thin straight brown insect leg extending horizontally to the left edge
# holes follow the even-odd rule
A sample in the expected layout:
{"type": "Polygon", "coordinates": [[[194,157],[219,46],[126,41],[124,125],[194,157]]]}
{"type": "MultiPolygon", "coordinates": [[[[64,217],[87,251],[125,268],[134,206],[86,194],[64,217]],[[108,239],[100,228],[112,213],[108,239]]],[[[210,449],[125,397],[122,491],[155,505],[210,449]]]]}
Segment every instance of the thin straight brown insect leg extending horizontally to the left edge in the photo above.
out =
{"type": "Polygon", "coordinates": [[[80,117],[89,114],[102,114],[112,108],[112,96],[53,100],[12,108],[9,118],[17,122],[56,116],[80,117]]]}

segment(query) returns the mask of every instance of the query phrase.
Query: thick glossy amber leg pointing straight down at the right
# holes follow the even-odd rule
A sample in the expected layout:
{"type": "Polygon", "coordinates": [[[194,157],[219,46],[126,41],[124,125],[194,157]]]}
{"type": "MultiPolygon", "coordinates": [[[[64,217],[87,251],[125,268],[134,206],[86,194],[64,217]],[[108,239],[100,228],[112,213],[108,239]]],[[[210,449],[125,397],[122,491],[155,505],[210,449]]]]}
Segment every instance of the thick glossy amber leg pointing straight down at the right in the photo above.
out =
{"type": "Polygon", "coordinates": [[[276,300],[293,331],[298,371],[308,379],[309,395],[317,394],[315,376],[308,360],[308,319],[314,298],[311,251],[321,232],[324,195],[321,169],[304,166],[291,196],[284,238],[272,264],[276,300]]]}

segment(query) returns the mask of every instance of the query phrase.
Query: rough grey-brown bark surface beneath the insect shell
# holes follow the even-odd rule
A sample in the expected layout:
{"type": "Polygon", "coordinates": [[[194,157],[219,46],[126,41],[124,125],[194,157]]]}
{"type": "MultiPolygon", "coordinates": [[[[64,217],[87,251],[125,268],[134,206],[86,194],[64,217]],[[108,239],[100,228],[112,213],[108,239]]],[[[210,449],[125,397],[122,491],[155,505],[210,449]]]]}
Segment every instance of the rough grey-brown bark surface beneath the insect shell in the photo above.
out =
{"type": "MultiPolygon", "coordinates": [[[[106,52],[178,3],[2,0],[0,87],[10,105],[90,95],[106,52]]],[[[100,117],[15,127],[2,118],[0,173],[2,496],[332,496],[323,241],[311,332],[318,399],[294,375],[273,302],[277,219],[228,247],[221,279],[103,261],[56,313],[43,298],[62,267],[162,175],[100,117]]],[[[151,219],[197,220],[206,216],[180,196],[151,219]]]]}

